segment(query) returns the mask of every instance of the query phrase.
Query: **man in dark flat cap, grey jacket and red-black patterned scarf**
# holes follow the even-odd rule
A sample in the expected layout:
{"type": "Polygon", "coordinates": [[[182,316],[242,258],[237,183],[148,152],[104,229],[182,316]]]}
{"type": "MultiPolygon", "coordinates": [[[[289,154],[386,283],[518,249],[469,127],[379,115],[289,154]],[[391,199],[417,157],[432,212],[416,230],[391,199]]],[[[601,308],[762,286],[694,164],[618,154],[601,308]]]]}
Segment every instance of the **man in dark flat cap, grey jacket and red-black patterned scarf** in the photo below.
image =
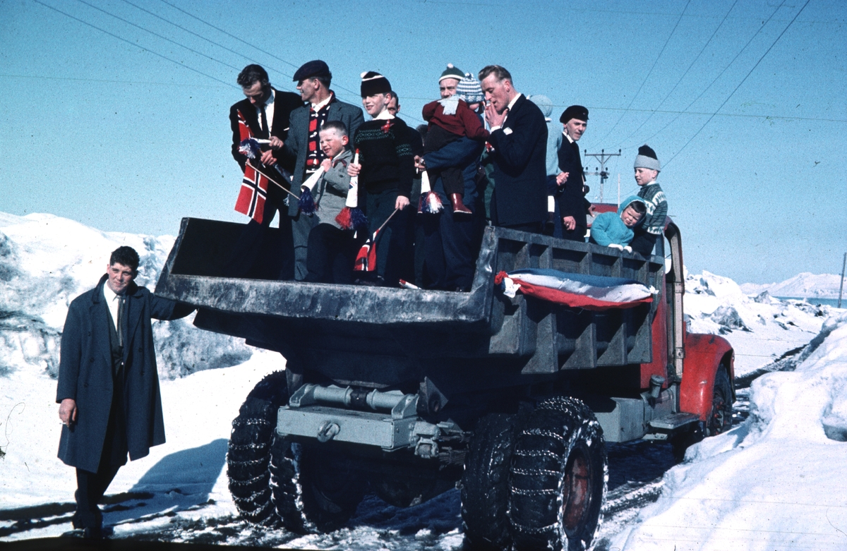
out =
{"type": "MultiPolygon", "coordinates": [[[[294,74],[294,81],[306,105],[291,112],[291,126],[284,154],[294,160],[291,185],[299,195],[300,185],[320,168],[326,158],[319,143],[321,126],[330,120],[340,121],[346,126],[347,135],[352,137],[356,135],[356,129],[364,118],[361,107],[339,102],[335,92],[329,90],[332,73],[329,72],[329,66],[320,59],[304,63],[294,74]]],[[[307,274],[306,246],[309,232],[318,224],[320,212],[316,217],[307,216],[299,212],[297,201],[289,201],[288,215],[291,217],[294,239],[294,278],[302,280],[307,274]]]]}

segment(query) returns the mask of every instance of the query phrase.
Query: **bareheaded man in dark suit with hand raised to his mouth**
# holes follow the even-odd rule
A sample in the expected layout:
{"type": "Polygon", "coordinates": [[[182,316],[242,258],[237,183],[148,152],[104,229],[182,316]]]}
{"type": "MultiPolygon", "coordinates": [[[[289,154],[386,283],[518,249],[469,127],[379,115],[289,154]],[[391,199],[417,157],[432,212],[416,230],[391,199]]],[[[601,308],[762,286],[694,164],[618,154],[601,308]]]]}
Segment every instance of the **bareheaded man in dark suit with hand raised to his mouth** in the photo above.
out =
{"type": "Polygon", "coordinates": [[[495,190],[491,222],[495,226],[540,233],[547,216],[544,114],[512,85],[512,74],[500,65],[479,71],[491,125],[489,152],[495,190]]]}

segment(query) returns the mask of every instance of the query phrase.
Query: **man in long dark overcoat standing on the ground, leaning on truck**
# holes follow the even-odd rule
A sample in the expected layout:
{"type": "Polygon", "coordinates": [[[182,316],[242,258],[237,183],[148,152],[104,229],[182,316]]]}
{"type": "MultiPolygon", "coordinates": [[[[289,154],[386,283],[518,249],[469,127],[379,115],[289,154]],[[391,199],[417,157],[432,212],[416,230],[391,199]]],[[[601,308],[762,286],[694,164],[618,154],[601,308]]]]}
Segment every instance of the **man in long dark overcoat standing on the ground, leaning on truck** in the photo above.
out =
{"type": "Polygon", "coordinates": [[[73,523],[84,537],[102,537],[97,502],[127,454],[136,460],[164,444],[150,319],[176,319],[193,310],[133,283],[138,260],[130,247],[113,251],[100,283],[70,303],[64,322],[58,457],[76,467],[73,523]]]}

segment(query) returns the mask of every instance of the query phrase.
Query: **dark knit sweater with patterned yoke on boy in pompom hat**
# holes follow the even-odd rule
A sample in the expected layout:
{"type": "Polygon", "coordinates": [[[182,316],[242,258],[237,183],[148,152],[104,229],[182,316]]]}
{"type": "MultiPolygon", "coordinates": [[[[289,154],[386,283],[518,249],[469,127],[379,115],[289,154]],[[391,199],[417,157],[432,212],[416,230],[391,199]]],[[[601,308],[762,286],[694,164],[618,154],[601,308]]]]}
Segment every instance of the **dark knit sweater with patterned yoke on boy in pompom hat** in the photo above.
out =
{"type": "Polygon", "coordinates": [[[400,118],[374,119],[363,123],[353,139],[355,149],[359,150],[360,189],[368,193],[381,193],[396,189],[401,196],[412,193],[412,179],[415,175],[415,148],[420,141],[400,118]]]}

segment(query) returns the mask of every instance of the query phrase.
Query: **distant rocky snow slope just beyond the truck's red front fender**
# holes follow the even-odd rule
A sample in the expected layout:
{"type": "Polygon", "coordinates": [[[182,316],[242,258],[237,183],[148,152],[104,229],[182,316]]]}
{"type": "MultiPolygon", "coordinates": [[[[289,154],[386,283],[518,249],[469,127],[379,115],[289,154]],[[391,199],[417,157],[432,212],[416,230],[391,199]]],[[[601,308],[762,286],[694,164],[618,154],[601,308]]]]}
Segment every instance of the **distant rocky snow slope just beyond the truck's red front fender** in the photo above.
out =
{"type": "Polygon", "coordinates": [[[735,350],[736,377],[805,346],[829,314],[839,311],[779,300],[767,291],[746,295],[732,279],[706,271],[686,275],[684,309],[690,332],[727,336],[735,350]]]}

